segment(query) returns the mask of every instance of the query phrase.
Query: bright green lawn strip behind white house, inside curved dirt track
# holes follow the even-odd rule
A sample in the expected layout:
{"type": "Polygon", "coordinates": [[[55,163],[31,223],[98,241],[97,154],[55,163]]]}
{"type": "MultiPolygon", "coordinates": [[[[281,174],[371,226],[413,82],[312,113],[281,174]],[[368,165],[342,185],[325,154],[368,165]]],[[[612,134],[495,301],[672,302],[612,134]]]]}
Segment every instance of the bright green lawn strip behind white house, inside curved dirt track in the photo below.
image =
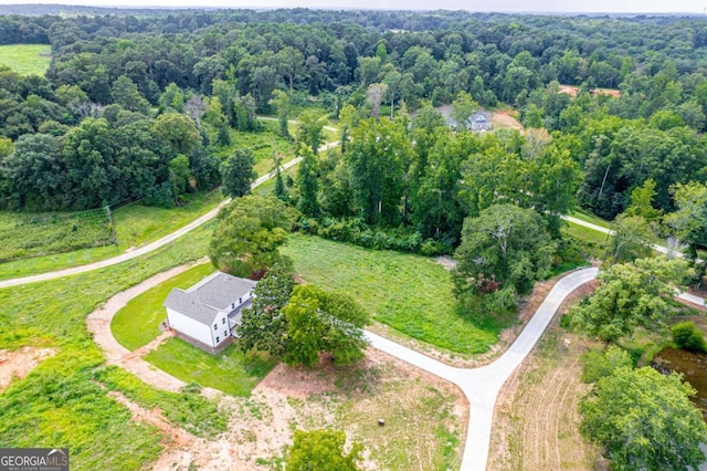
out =
{"type": "Polygon", "coordinates": [[[110,323],[115,339],[129,350],[149,344],[159,335],[159,323],[166,317],[162,303],[172,287],[187,289],[213,271],[211,263],[202,263],[130,300],[110,323]]]}

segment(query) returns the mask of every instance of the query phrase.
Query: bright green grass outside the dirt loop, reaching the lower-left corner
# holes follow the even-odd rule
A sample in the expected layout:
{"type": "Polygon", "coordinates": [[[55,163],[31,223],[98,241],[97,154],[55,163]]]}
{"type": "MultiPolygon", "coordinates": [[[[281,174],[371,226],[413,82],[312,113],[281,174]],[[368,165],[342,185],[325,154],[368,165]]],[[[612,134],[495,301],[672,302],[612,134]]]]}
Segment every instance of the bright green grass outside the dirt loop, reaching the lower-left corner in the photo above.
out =
{"type": "Polygon", "coordinates": [[[113,294],[171,266],[203,255],[212,226],[139,260],[44,283],[0,290],[0,348],[48,346],[56,355],[0,395],[0,443],[68,447],[77,470],[133,470],[152,461],[162,437],[131,419],[107,396],[119,390],[197,435],[225,429],[213,402],[194,394],[149,387],[133,375],[104,367],[105,357],[86,331],[85,317],[113,294]]]}

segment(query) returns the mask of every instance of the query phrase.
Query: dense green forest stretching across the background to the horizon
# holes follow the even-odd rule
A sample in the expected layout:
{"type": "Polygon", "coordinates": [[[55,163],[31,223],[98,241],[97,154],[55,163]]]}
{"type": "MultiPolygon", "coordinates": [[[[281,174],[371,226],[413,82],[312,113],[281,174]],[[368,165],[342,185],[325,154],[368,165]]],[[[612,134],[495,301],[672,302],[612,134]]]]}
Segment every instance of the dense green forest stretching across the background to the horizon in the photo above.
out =
{"type": "MultiPolygon", "coordinates": [[[[701,201],[701,19],[131,13],[0,17],[0,43],[52,49],[45,76],[0,70],[0,208],[179,205],[221,185],[230,129],[303,109],[314,126],[296,136],[304,155],[325,116],[342,146],[305,159],[279,196],[333,231],[402,228],[418,249],[451,247],[464,218],[495,203],[545,211],[556,229],[577,203],[613,219],[643,195],[650,219],[701,201]],[[526,129],[458,126],[497,107],[517,109],[526,129]]],[[[688,232],[705,244],[707,229],[688,232]]]]}

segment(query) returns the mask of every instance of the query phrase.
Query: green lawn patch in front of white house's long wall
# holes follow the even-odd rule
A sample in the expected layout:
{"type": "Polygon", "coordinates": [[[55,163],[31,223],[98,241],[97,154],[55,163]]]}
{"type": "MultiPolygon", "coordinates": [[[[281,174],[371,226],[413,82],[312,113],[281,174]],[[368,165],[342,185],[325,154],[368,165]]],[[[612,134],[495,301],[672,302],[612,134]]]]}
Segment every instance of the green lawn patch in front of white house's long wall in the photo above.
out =
{"type": "Polygon", "coordinates": [[[170,338],[145,359],[182,381],[242,397],[250,396],[251,390],[277,364],[266,354],[243,354],[235,345],[211,355],[181,338],[170,338]]]}

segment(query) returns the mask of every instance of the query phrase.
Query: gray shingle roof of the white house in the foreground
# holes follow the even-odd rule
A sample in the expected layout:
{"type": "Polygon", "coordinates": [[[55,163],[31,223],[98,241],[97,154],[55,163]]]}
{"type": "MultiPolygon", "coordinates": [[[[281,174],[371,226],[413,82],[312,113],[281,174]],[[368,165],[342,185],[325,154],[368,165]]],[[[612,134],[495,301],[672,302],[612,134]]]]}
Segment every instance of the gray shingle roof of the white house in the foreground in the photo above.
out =
{"type": "Polygon", "coordinates": [[[187,291],[172,289],[163,306],[211,325],[219,311],[230,311],[231,303],[238,303],[255,284],[252,280],[215,272],[187,291]]]}

